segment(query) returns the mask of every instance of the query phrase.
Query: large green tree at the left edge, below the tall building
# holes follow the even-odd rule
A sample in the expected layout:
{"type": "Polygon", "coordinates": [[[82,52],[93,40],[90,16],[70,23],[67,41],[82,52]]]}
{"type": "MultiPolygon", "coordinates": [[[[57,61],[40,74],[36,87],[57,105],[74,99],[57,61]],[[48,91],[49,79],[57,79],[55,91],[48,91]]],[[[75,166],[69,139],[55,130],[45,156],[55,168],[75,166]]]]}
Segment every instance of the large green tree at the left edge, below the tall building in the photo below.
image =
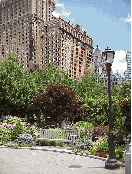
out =
{"type": "Polygon", "coordinates": [[[12,54],[0,63],[0,112],[21,116],[35,89],[30,73],[24,71],[18,60],[19,57],[12,54]]]}

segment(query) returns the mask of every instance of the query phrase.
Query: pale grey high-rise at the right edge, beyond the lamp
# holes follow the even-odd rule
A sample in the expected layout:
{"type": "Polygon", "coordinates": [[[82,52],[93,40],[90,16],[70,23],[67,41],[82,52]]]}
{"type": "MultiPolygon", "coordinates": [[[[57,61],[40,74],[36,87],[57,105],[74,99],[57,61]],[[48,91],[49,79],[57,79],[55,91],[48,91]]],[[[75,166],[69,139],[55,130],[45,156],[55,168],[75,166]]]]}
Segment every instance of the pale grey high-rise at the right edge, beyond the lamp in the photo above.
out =
{"type": "Polygon", "coordinates": [[[126,61],[127,61],[127,70],[125,71],[125,80],[131,81],[131,52],[126,53],[126,61]]]}

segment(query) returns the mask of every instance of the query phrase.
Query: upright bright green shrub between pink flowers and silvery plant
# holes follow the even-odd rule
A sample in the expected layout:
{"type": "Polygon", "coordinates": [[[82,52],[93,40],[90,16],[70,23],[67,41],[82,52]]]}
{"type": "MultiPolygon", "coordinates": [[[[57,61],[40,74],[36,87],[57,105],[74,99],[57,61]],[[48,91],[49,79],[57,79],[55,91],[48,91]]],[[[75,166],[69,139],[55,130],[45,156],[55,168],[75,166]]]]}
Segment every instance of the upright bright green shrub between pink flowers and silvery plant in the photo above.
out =
{"type": "Polygon", "coordinates": [[[15,140],[19,134],[23,132],[23,125],[21,124],[20,120],[16,123],[15,127],[11,132],[11,139],[15,140]]]}

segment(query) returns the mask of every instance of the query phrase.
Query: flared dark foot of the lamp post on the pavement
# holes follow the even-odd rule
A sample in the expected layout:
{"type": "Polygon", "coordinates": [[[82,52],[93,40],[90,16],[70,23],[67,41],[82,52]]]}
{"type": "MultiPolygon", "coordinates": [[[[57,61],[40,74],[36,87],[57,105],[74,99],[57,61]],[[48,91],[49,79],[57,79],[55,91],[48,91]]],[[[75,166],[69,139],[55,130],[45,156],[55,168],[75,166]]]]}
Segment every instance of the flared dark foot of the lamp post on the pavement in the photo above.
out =
{"type": "Polygon", "coordinates": [[[118,169],[120,168],[120,164],[116,159],[108,159],[105,163],[105,169],[118,169]]]}

